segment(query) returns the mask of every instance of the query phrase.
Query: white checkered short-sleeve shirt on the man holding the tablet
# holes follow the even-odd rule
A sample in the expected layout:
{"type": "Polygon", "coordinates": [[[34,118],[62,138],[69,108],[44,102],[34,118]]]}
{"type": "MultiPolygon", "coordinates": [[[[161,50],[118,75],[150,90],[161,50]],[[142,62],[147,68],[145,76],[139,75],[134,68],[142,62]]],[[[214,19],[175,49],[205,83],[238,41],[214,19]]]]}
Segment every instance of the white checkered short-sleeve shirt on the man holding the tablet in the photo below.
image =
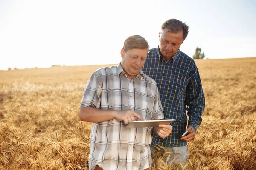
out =
{"type": "MultiPolygon", "coordinates": [[[[163,119],[156,82],[140,72],[129,79],[122,66],[100,68],[84,88],[80,108],[133,109],[145,120],[163,119]]],[[[151,167],[152,128],[125,128],[116,119],[92,123],[89,169],[143,170],[151,167]]]]}

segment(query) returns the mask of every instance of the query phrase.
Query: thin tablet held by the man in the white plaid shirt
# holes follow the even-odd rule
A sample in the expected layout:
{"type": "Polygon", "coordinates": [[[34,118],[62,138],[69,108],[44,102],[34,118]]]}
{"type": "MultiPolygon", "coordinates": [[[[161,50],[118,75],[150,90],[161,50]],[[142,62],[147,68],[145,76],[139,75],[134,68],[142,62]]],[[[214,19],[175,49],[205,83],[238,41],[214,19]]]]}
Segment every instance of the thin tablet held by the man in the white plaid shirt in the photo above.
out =
{"type": "Polygon", "coordinates": [[[173,122],[174,119],[166,120],[134,120],[129,123],[127,128],[136,128],[136,127],[158,127],[158,125],[168,125],[173,122]]]}

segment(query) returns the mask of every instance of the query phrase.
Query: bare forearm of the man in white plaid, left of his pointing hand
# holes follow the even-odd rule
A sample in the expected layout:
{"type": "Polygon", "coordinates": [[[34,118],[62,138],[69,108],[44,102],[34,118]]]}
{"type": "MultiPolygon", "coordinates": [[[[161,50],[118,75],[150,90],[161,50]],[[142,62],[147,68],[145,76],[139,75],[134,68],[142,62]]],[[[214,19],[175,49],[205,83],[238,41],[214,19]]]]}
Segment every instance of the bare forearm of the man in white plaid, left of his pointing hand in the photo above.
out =
{"type": "Polygon", "coordinates": [[[79,118],[82,121],[92,123],[104,122],[115,119],[115,112],[114,110],[101,110],[90,106],[79,109],[79,118]]]}

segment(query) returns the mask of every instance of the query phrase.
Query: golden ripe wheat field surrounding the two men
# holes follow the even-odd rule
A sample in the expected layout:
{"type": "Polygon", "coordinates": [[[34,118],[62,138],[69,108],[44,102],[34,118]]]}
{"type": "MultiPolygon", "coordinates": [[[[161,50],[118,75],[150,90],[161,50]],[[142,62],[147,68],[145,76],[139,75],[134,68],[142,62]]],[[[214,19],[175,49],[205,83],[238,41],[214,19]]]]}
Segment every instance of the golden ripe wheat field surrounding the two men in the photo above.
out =
{"type": "MultiPolygon", "coordinates": [[[[255,170],[256,57],[196,63],[206,108],[180,168],[255,170]]],[[[87,169],[91,124],[80,121],[79,105],[103,66],[0,71],[0,170],[87,169]]],[[[177,168],[152,158],[151,170],[177,168]]]]}

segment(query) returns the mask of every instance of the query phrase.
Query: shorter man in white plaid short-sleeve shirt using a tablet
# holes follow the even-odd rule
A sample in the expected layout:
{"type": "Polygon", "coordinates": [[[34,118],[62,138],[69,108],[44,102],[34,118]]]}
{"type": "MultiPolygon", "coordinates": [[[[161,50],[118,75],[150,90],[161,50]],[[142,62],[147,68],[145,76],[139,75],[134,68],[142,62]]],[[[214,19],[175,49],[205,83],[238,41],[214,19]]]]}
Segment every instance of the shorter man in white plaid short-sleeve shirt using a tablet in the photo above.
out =
{"type": "Polygon", "coordinates": [[[172,132],[171,125],[125,128],[137,119],[163,119],[157,83],[141,71],[148,50],[143,37],[128,37],[121,63],[95,71],[85,85],[79,117],[93,122],[90,170],[149,170],[152,131],[162,138],[172,132]]]}

